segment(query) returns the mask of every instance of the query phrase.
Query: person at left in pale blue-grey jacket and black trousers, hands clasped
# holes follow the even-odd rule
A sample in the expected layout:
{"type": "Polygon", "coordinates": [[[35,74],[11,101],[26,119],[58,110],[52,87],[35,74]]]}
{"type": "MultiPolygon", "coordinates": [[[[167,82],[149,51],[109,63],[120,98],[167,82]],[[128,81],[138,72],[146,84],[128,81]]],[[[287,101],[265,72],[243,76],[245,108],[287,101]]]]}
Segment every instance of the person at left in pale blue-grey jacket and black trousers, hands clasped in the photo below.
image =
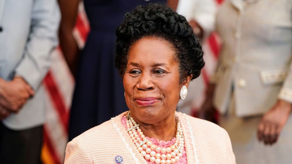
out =
{"type": "Polygon", "coordinates": [[[44,91],[58,44],[56,0],[0,1],[0,163],[41,163],[44,91]]]}

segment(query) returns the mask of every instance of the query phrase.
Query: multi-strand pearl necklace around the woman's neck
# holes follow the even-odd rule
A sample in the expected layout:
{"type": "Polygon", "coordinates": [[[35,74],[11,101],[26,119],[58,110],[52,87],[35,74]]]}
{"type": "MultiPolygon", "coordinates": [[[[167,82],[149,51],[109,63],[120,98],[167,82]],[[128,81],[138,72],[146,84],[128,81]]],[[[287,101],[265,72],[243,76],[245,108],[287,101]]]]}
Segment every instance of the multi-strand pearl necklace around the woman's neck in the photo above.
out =
{"type": "MultiPolygon", "coordinates": [[[[176,117],[176,116],[175,116],[176,117]]],[[[156,164],[171,164],[176,163],[182,157],[182,151],[184,148],[184,138],[182,134],[182,127],[180,122],[176,117],[177,122],[177,132],[176,132],[176,142],[170,147],[163,148],[152,144],[140,129],[140,125],[135,122],[135,120],[130,116],[130,112],[127,114],[127,131],[136,145],[138,151],[141,155],[150,160],[150,162],[155,162],[156,164]]]]}

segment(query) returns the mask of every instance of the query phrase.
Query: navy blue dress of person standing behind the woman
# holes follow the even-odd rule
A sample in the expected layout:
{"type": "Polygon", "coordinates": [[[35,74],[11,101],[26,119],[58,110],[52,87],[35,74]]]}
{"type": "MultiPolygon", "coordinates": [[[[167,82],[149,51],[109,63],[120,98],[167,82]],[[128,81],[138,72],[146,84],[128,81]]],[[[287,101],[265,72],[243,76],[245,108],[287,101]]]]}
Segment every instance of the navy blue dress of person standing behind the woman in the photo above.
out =
{"type": "Polygon", "coordinates": [[[114,66],[116,28],[137,5],[166,0],[84,0],[91,32],[76,75],[69,141],[82,132],[127,111],[122,79],[114,66]]]}

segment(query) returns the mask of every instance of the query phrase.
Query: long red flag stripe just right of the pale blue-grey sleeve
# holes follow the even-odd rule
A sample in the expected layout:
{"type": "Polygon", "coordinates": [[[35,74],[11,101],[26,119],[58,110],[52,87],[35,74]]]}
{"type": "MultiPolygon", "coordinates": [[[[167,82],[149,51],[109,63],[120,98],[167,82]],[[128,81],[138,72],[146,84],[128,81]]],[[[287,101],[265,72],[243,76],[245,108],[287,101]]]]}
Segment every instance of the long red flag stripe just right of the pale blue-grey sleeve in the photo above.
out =
{"type": "Polygon", "coordinates": [[[47,91],[49,92],[52,103],[53,103],[55,109],[57,110],[59,119],[61,120],[65,131],[68,133],[69,113],[66,112],[63,97],[61,96],[60,92],[58,91],[57,84],[54,80],[54,77],[53,77],[51,71],[48,72],[47,76],[44,79],[44,87],[47,88],[47,91]]]}

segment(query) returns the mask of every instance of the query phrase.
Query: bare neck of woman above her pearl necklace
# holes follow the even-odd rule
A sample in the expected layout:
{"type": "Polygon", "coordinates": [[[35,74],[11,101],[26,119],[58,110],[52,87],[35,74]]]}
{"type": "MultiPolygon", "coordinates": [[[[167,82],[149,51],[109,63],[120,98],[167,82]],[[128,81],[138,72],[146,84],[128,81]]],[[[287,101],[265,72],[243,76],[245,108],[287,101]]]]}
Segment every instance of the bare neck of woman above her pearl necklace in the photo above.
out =
{"type": "MultiPolygon", "coordinates": [[[[135,118],[134,118],[135,119],[135,118]]],[[[173,117],[166,117],[164,120],[155,124],[146,124],[139,120],[135,120],[145,136],[149,138],[157,138],[158,140],[171,141],[176,136],[176,119],[173,117]]]]}

